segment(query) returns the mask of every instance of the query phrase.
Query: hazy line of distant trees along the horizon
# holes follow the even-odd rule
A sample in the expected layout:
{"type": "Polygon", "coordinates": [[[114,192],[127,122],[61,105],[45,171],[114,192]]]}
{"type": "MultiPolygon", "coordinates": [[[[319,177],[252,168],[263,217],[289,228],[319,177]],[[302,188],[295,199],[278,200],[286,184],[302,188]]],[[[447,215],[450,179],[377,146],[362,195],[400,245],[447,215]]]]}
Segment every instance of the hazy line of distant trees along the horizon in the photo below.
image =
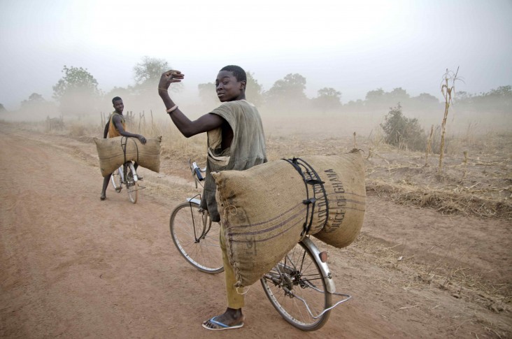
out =
{"type": "MultiPolygon", "coordinates": [[[[110,103],[113,96],[121,96],[130,103],[130,107],[138,106],[140,109],[150,109],[159,101],[154,99],[160,75],[171,69],[164,59],[143,57],[136,64],[134,71],[134,85],[127,87],[114,87],[108,92],[98,88],[98,82],[87,68],[65,66],[62,69],[63,77],[53,88],[55,103],[46,101],[41,94],[33,93],[27,100],[22,101],[23,110],[59,110],[62,115],[83,115],[96,113],[110,103]],[[55,104],[58,105],[55,106],[55,104]]],[[[400,107],[415,110],[438,110],[442,107],[436,96],[421,93],[418,96],[409,95],[405,89],[397,87],[390,92],[382,88],[367,92],[364,100],[341,102],[341,92],[332,87],[322,87],[313,98],[306,96],[306,78],[299,73],[290,73],[273,83],[270,89],[265,90],[255,78],[255,74],[247,72],[248,83],[246,97],[256,106],[274,113],[294,112],[343,112],[343,110],[387,110],[400,103],[400,107]]],[[[179,92],[183,89],[181,84],[171,87],[179,92]]],[[[205,109],[218,105],[213,82],[198,85],[199,103],[205,109]]],[[[497,110],[511,113],[512,89],[511,86],[502,86],[481,94],[468,94],[458,92],[453,99],[455,106],[471,110],[497,110]]],[[[159,106],[158,106],[159,107],[159,106]]],[[[0,111],[5,110],[0,103],[0,111]]]]}

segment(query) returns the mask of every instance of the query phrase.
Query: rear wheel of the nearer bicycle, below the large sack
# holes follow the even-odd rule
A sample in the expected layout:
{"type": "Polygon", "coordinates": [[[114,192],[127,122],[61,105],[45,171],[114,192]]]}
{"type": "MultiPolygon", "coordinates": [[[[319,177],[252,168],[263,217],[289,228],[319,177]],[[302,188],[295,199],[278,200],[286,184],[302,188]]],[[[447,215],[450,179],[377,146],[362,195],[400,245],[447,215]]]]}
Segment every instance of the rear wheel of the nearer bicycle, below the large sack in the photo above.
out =
{"type": "Polygon", "coordinates": [[[325,325],[332,303],[318,261],[311,250],[298,243],[260,280],[273,307],[290,324],[303,331],[325,325]]]}

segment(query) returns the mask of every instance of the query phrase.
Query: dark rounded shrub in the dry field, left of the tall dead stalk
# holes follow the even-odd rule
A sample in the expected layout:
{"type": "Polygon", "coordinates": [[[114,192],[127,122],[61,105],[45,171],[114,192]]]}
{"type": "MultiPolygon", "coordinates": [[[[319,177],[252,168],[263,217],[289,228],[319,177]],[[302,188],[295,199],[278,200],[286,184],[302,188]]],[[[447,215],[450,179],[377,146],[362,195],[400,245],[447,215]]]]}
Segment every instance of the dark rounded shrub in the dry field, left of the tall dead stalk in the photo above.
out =
{"type": "Polygon", "coordinates": [[[425,150],[427,141],[425,131],[420,127],[418,119],[404,117],[400,103],[397,107],[390,108],[381,127],[386,143],[408,150],[425,150]]]}

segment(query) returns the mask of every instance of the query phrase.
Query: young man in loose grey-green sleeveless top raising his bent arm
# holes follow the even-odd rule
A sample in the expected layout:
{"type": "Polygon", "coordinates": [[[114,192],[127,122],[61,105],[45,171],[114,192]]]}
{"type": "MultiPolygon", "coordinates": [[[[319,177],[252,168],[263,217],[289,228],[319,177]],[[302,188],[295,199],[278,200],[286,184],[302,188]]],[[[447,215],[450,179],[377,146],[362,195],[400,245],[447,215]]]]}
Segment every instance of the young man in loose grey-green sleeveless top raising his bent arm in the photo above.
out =
{"type": "MultiPolygon", "coordinates": [[[[189,120],[169,97],[169,85],[180,82],[184,75],[171,70],[162,74],[158,94],[164,101],[166,112],[183,136],[208,134],[208,161],[201,208],[208,210],[213,222],[220,221],[215,201],[215,181],[211,172],[243,171],[266,162],[265,137],[262,120],[255,106],[246,101],[247,76],[239,66],[225,66],[215,80],[217,96],[222,102],[211,113],[189,120]]],[[[203,323],[205,329],[237,329],[243,326],[243,294],[236,291],[236,279],[227,259],[224,229],[221,225],[220,247],[224,262],[227,292],[227,310],[203,323]]]]}

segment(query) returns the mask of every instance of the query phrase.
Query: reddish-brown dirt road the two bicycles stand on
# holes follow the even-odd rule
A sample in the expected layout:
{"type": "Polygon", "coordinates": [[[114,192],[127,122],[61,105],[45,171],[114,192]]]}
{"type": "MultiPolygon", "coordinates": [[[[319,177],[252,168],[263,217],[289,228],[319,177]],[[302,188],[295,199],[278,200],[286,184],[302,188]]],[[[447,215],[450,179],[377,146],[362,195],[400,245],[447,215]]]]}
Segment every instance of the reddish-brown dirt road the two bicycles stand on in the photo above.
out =
{"type": "MultiPolygon", "coordinates": [[[[206,331],[201,322],[225,309],[223,275],[194,270],[169,236],[169,214],[194,191],[191,182],[143,169],[146,188],[138,203],[112,187],[100,201],[102,178],[90,140],[0,124],[0,143],[2,338],[491,338],[511,333],[508,312],[490,312],[482,303],[453,297],[450,289],[418,282],[408,268],[378,266],[362,245],[330,249],[336,287],[354,298],[336,308],[319,331],[304,333],[284,322],[259,284],[246,298],[246,326],[206,331]]],[[[414,243],[425,234],[407,227],[411,220],[418,226],[425,215],[445,227],[466,222],[471,228],[478,222],[453,221],[376,197],[369,197],[368,207],[363,231],[380,243],[397,237],[414,243]]],[[[501,243],[489,249],[493,257],[471,254],[469,260],[481,261],[479,267],[501,256],[493,267],[506,280],[509,225],[491,221],[486,226],[502,227],[501,243]]]]}

